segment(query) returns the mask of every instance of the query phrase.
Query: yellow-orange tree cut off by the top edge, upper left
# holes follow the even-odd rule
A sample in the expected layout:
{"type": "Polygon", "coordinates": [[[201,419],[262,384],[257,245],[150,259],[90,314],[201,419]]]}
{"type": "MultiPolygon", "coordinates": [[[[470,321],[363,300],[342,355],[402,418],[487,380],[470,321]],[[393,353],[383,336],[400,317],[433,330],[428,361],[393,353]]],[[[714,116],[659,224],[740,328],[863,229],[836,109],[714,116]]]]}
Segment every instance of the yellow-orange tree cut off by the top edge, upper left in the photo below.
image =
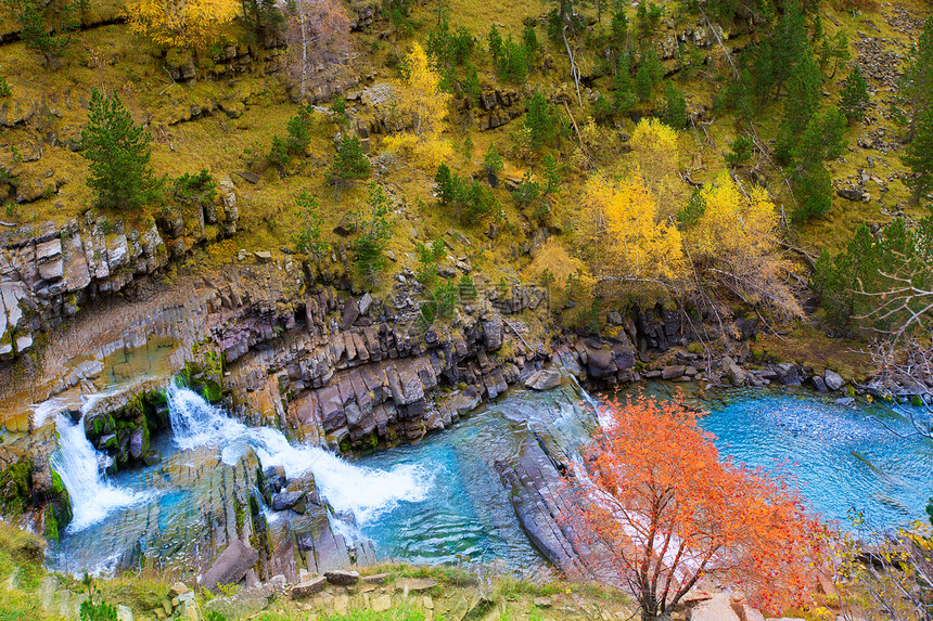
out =
{"type": "Polygon", "coordinates": [[[237,16],[237,0],[127,0],[130,29],[161,48],[202,51],[237,16]]]}

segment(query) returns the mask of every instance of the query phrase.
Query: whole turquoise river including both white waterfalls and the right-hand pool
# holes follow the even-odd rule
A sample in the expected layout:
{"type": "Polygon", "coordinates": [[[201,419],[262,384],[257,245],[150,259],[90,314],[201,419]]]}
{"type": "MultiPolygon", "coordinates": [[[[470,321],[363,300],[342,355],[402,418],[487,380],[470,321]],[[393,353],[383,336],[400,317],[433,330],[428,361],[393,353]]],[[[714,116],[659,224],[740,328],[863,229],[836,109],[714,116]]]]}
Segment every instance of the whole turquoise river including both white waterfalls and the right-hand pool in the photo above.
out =
{"type": "MultiPolygon", "coordinates": [[[[657,384],[650,393],[667,398],[674,390],[657,384]]],[[[290,443],[277,429],[247,428],[188,389],[169,387],[168,397],[174,435],[159,440],[162,464],[113,479],[98,473],[103,456],[81,427],[57,421],[62,449],[55,464],[76,519],[50,551],[53,568],[110,571],[142,556],[183,564],[190,542],[205,539],[216,515],[253,483],[250,473],[258,460],[264,467],[283,466],[290,477],[314,473],[334,508],[335,528],[349,540],[371,539],[380,557],[482,561],[526,575],[547,573],[495,462],[513,458],[528,441],[577,458],[597,427],[593,412],[581,404],[587,396],[572,385],[544,393],[515,389],[445,431],[350,462],[290,443]]],[[[933,496],[933,445],[882,426],[879,418],[909,430],[895,410],[845,407],[789,390],[729,390],[688,400],[708,411],[700,424],[717,437],[724,456],[782,469],[797,480],[810,507],[840,528],[851,528],[852,512],[874,528],[904,526],[922,518],[933,496]]],[[[273,523],[276,515],[266,512],[273,523]]]]}

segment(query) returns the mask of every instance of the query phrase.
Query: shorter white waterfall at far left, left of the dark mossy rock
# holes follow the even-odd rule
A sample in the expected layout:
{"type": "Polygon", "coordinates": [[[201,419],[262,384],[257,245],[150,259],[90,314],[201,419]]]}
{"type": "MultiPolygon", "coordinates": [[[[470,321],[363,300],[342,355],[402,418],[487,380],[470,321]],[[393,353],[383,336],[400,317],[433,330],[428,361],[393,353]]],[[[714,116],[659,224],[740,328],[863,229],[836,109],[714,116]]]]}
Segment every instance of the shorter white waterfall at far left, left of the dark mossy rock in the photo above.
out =
{"type": "Polygon", "coordinates": [[[114,509],[135,504],[148,494],[112,484],[102,474],[110,457],[93,448],[85,434],[85,411],[77,423],[59,414],[55,429],[59,450],[52,453],[52,469],[62,478],[72,500],[73,519],[67,532],[75,533],[104,519],[114,509]]]}

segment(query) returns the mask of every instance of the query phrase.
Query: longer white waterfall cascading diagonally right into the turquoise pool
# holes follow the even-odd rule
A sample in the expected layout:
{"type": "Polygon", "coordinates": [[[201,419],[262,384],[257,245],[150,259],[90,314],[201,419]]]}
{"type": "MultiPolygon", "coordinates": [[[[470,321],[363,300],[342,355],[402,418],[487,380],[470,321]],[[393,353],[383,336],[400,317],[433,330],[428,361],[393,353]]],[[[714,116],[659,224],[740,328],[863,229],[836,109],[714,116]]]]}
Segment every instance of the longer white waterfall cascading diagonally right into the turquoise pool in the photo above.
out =
{"type": "Polygon", "coordinates": [[[356,466],[319,447],[292,444],[278,429],[233,421],[189,388],[171,385],[167,398],[180,449],[221,447],[221,460],[231,465],[252,449],[263,467],[282,466],[290,479],[314,473],[318,490],[334,510],[352,512],[360,526],[400,502],[421,502],[431,491],[433,475],[421,465],[399,464],[387,470],[356,466]]]}

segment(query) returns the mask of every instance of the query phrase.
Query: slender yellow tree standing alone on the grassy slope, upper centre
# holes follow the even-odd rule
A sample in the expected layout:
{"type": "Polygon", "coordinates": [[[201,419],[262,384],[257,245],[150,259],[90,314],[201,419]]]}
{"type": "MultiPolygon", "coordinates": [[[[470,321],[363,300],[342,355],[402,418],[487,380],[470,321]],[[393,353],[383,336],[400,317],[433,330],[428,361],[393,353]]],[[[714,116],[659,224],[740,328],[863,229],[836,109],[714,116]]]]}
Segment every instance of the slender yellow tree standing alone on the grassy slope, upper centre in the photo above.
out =
{"type": "Polygon", "coordinates": [[[434,169],[453,151],[440,138],[450,95],[440,90],[440,74],[419,43],[408,54],[406,68],[406,78],[396,90],[396,109],[409,129],[386,138],[385,147],[418,166],[434,169]]]}

